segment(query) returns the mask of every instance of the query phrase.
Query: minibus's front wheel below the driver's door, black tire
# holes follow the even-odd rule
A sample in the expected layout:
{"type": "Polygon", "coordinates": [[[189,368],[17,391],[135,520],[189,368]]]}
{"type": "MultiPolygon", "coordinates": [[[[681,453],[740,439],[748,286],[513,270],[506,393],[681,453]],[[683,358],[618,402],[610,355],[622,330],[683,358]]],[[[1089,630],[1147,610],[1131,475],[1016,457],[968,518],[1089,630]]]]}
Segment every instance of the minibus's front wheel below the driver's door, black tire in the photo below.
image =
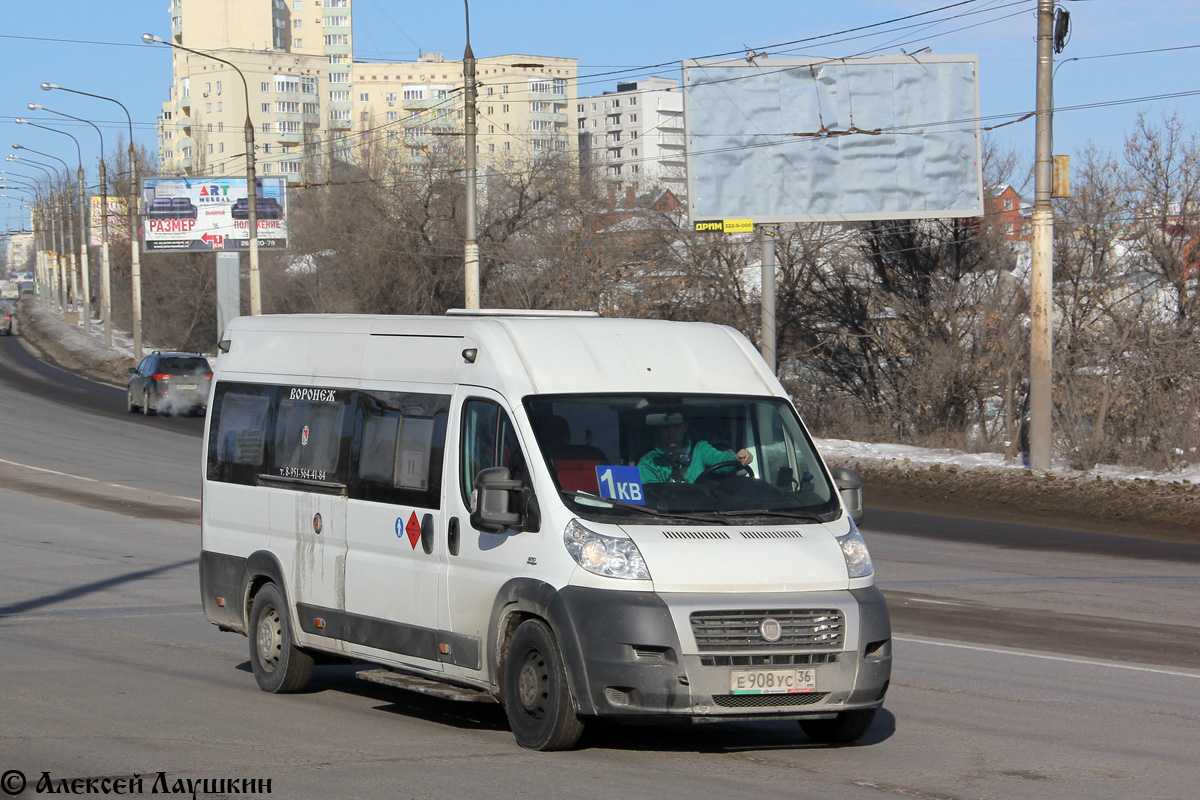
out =
{"type": "Polygon", "coordinates": [[[504,711],[517,744],[529,750],[569,750],[583,735],[558,645],[541,620],[522,622],[509,643],[504,711]]]}

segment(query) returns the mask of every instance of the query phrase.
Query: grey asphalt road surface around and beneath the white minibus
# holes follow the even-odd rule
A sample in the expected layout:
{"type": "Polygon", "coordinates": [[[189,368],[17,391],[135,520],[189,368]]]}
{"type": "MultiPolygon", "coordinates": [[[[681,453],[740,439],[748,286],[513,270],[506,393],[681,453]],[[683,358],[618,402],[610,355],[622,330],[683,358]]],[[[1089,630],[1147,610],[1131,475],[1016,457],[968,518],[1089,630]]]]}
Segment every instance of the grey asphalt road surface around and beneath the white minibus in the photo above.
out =
{"type": "Polygon", "coordinates": [[[0,772],[22,796],[43,772],[277,798],[1196,794],[1200,551],[1118,531],[869,509],[895,670],[857,746],[785,722],[596,726],[532,753],[498,706],[348,667],[265,694],[199,607],[200,422],[130,415],[0,338],[0,772]]]}

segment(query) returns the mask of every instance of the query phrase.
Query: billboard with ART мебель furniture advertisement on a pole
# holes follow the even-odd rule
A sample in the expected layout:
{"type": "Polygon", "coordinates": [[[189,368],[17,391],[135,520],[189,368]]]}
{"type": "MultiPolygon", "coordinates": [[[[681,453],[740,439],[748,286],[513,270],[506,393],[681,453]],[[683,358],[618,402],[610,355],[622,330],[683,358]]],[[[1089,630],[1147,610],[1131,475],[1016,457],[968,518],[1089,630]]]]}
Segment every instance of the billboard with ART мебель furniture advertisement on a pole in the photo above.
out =
{"type": "MultiPolygon", "coordinates": [[[[257,180],[258,246],[288,246],[287,179],[257,180]]],[[[203,253],[250,249],[245,178],[151,178],[142,181],[142,249],[203,253]]]]}

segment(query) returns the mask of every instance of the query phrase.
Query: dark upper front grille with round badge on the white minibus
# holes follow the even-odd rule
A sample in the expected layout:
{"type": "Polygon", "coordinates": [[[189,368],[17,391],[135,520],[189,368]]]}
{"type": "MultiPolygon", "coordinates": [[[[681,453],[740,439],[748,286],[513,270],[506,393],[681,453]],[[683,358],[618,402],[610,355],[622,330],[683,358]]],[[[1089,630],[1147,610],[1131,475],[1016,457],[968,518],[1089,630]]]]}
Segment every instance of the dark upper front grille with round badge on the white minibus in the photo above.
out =
{"type": "Polygon", "coordinates": [[[691,632],[700,650],[840,650],[846,619],[835,608],[755,612],[694,612],[691,632]],[[764,620],[779,622],[780,636],[768,642],[764,620]]]}

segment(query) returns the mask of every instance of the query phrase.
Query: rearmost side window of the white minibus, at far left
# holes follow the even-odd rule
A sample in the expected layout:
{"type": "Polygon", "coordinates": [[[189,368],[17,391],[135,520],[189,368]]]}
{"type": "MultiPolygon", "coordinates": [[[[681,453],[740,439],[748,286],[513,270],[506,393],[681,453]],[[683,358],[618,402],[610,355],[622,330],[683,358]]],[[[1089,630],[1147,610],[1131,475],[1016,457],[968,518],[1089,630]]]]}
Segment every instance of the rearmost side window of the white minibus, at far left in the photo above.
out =
{"type": "Polygon", "coordinates": [[[221,381],[212,396],[210,481],[256,486],[266,463],[266,434],[275,386],[221,381]]]}

